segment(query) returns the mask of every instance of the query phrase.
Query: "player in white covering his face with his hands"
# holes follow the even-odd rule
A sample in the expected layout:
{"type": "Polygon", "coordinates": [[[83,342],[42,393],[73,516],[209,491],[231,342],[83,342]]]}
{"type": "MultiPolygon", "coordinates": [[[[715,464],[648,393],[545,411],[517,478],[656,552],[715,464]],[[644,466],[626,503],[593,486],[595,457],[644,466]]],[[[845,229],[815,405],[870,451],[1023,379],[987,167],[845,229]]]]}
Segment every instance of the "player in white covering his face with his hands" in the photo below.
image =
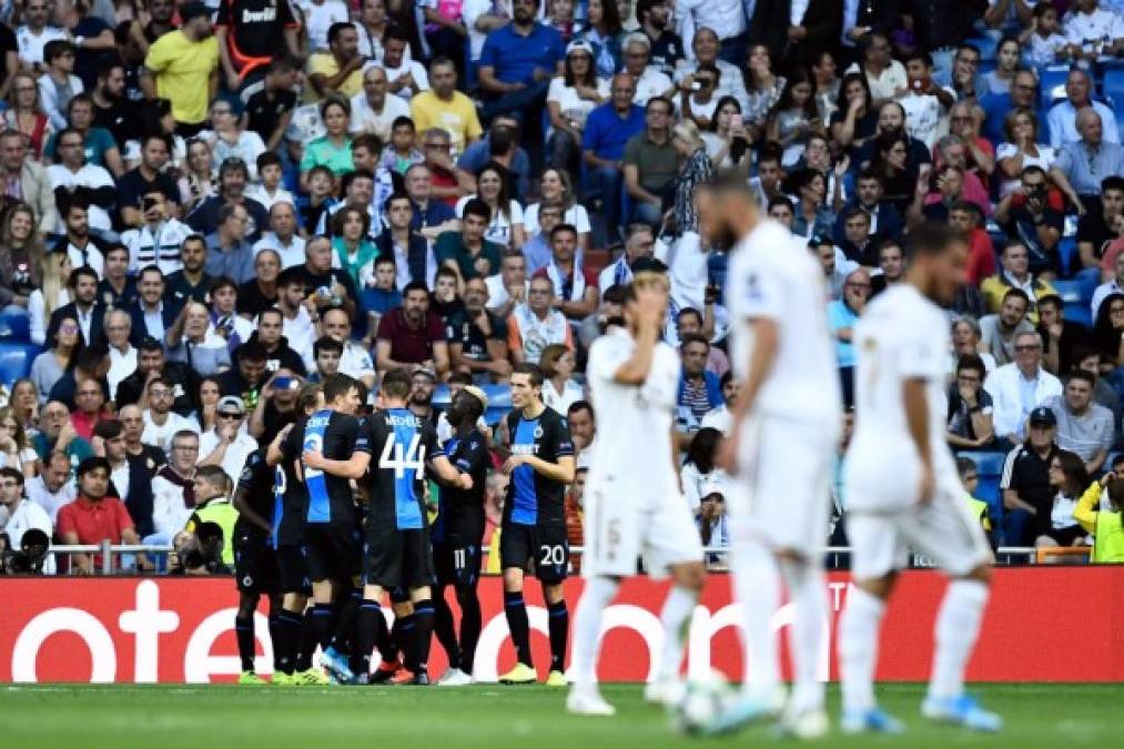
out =
{"type": "Polygon", "coordinates": [[[660,614],[659,677],[645,697],[671,703],[682,694],[683,641],[706,572],[672,439],[680,362],[660,342],[668,292],[665,276],[636,273],[625,292],[625,319],[589,349],[586,374],[598,430],[586,478],[586,590],[574,616],[574,683],[566,698],[566,709],[582,715],[615,712],[597,688],[601,614],[641,557],[649,574],[670,572],[674,580],[660,614]]]}

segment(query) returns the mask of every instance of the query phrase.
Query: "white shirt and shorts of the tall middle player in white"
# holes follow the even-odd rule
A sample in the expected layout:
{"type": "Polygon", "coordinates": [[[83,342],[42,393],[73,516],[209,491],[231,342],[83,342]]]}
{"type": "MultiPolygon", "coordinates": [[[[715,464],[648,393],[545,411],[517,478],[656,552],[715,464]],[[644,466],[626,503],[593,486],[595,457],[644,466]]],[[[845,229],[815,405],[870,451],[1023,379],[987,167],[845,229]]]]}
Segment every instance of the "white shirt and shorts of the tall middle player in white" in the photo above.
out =
{"type": "Polygon", "coordinates": [[[740,381],[749,374],[753,319],[779,326],[772,368],[753,410],[735,427],[740,477],[727,496],[735,539],[805,550],[827,540],[841,401],[825,298],[819,264],[780,224],[762,220],[734,249],[726,307],[740,381]]]}

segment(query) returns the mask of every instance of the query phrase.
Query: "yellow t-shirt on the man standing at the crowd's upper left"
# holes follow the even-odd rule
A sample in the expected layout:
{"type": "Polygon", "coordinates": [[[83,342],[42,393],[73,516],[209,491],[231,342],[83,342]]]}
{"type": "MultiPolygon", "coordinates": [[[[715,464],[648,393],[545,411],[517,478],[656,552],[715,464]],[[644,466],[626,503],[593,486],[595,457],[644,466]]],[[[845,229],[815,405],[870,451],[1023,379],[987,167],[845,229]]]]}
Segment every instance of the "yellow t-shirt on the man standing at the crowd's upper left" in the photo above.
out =
{"type": "Polygon", "coordinates": [[[183,31],[169,31],[148,47],[144,66],[156,78],[156,94],[172,102],[175,121],[198,125],[207,119],[210,76],[218,69],[214,36],[192,42],[183,31]]]}

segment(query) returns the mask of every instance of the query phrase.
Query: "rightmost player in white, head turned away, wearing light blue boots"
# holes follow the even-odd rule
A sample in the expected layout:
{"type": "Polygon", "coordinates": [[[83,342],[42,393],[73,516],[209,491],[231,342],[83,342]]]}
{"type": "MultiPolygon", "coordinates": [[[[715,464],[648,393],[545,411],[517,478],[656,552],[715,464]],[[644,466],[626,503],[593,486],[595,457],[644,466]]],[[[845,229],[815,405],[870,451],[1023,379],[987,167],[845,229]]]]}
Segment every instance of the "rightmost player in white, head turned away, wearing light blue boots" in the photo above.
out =
{"type": "Polygon", "coordinates": [[[878,630],[908,549],[952,577],[936,619],[927,718],[995,731],[1000,719],[964,695],[964,667],[979,633],[991,551],[962,502],[945,442],[948,305],[966,281],[968,240],[940,225],[910,233],[907,283],[879,296],[854,327],[855,432],[844,481],[854,549],[840,624],[843,730],[898,732],[874,703],[878,630]]]}

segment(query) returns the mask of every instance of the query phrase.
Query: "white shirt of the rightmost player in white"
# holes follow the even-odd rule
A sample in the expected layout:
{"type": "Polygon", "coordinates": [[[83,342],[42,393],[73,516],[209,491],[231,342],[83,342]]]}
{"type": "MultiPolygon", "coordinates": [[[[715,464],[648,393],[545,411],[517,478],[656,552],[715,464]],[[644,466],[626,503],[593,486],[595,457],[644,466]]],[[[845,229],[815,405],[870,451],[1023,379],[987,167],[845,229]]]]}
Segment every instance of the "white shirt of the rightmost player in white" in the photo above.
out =
{"type": "Polygon", "coordinates": [[[862,467],[863,480],[862,486],[847,491],[847,506],[865,509],[912,506],[917,502],[919,461],[901,405],[907,380],[925,381],[928,448],[937,477],[955,475],[944,433],[951,349],[948,315],[914,286],[895,285],[880,294],[859,318],[854,348],[858,351],[855,431],[847,466],[856,477],[860,476],[856,467],[862,467]],[[877,477],[877,466],[885,466],[894,475],[877,477]],[[885,488],[879,490],[876,482],[885,488]],[[892,490],[886,490],[891,485],[892,490]]]}

